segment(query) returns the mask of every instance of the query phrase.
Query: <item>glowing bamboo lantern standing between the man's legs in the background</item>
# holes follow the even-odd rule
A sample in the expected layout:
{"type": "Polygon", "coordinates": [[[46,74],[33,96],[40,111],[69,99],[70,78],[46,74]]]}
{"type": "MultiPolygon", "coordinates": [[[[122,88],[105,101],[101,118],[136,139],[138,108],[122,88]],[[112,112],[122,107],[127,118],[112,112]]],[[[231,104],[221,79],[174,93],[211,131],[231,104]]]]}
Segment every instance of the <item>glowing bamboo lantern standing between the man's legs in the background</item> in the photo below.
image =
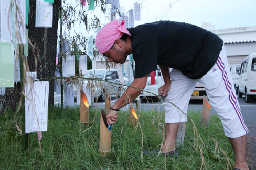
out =
{"type": "Polygon", "coordinates": [[[201,114],[201,126],[205,125],[205,128],[208,128],[210,122],[210,104],[208,99],[204,98],[203,100],[203,108],[201,114]]]}

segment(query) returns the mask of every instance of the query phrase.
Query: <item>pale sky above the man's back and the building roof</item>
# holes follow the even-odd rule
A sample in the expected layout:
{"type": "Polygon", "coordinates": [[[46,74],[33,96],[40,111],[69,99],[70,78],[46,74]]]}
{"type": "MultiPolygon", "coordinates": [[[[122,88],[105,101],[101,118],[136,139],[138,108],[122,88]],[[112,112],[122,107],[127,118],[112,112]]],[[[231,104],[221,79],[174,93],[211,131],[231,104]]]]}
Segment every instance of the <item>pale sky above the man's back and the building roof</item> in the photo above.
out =
{"type": "Polygon", "coordinates": [[[199,27],[211,22],[216,29],[256,26],[255,0],[120,0],[120,6],[127,13],[135,2],[141,3],[141,21],[134,21],[135,26],[158,20],[199,27]]]}

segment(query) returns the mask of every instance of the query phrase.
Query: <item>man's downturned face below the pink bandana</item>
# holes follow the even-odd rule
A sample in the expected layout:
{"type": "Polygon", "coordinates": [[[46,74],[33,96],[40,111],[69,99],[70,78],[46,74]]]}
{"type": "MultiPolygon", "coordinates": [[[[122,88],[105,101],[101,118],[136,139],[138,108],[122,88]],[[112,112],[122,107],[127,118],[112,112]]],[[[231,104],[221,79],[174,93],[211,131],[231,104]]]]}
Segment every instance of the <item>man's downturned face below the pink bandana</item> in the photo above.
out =
{"type": "Polygon", "coordinates": [[[123,64],[127,58],[127,55],[125,55],[124,50],[117,49],[115,47],[106,51],[103,55],[108,57],[110,62],[114,62],[116,64],[118,63],[123,64]]]}

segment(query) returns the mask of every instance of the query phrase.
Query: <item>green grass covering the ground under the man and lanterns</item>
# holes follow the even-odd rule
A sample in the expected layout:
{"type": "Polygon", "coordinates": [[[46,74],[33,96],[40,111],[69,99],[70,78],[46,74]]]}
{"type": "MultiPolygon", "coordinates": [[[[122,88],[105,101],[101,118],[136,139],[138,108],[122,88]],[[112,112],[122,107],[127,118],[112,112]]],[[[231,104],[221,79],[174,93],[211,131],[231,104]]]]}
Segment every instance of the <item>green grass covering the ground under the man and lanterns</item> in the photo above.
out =
{"type": "MultiPolygon", "coordinates": [[[[171,160],[147,155],[141,157],[142,132],[143,150],[155,150],[162,143],[163,112],[141,112],[141,128],[138,126],[137,129],[127,122],[129,113],[119,112],[112,129],[111,153],[107,157],[99,155],[100,109],[94,123],[95,110],[90,109],[92,122],[86,127],[79,124],[79,108],[63,112],[60,108],[50,108],[48,131],[42,132],[40,141],[42,150],[37,133],[30,133],[29,148],[25,152],[19,133],[3,130],[14,128],[15,122],[20,125],[21,116],[16,115],[14,119],[14,113],[7,112],[0,115],[0,169],[200,169],[202,155],[205,160],[202,169],[227,169],[227,157],[220,148],[232,161],[234,154],[218,116],[211,115],[209,128],[205,129],[200,126],[200,113],[190,111],[188,115],[200,137],[194,133],[195,128],[189,118],[184,145],[177,149],[179,158],[171,160]],[[216,153],[216,143],[212,138],[218,142],[216,153]]],[[[229,169],[232,168],[229,166],[229,169]]]]}

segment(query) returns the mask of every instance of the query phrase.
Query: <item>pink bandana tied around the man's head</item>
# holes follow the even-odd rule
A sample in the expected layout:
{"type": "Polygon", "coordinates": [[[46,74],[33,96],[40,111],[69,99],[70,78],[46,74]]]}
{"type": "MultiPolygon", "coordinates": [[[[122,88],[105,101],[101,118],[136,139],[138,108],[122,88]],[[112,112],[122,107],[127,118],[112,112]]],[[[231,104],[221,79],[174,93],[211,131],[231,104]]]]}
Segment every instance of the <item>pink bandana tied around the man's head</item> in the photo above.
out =
{"type": "Polygon", "coordinates": [[[110,23],[107,23],[99,30],[95,39],[95,44],[101,54],[110,50],[115,40],[121,38],[124,33],[131,36],[124,23],[125,20],[122,20],[119,23],[119,21],[116,19],[110,23]]]}

